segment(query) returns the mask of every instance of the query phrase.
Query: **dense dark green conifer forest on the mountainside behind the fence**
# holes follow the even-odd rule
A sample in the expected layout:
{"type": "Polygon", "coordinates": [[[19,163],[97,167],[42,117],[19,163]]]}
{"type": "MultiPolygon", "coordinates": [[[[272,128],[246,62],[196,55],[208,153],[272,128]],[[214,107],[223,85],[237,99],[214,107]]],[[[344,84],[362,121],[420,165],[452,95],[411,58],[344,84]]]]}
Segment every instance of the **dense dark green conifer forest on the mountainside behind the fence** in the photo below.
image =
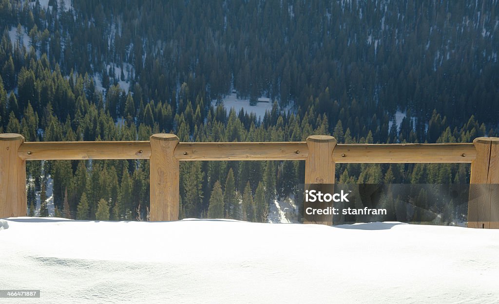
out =
{"type": "MultiPolygon", "coordinates": [[[[0,0],[0,34],[0,133],[26,141],[498,136],[498,0],[0,0]],[[233,91],[272,105],[225,108],[233,91]]],[[[468,183],[469,169],[349,164],[336,178],[468,183]]],[[[303,176],[303,162],[183,162],[181,217],[264,221],[303,176]]],[[[47,214],[49,183],[62,217],[144,219],[149,204],[148,161],[28,162],[26,182],[31,215],[47,214]]]]}

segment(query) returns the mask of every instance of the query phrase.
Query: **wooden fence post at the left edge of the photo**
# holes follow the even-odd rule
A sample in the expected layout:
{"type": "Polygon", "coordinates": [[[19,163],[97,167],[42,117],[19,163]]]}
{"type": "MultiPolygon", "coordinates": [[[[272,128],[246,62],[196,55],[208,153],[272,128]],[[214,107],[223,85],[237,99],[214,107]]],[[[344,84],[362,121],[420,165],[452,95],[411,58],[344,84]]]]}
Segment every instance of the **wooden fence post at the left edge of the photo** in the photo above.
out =
{"type": "Polygon", "coordinates": [[[17,156],[20,134],[0,134],[0,218],[26,216],[26,162],[17,156]]]}

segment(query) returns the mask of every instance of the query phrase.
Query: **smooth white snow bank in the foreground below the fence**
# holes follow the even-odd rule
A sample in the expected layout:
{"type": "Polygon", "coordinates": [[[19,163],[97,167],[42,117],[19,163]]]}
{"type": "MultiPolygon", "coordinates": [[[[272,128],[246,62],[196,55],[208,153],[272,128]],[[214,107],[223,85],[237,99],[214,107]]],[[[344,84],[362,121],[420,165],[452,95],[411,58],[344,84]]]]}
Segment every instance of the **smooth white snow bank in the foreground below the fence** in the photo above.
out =
{"type": "Polygon", "coordinates": [[[497,303],[499,230],[9,218],[0,303],[497,303]],[[3,301],[3,302],[2,302],[3,301]]]}

